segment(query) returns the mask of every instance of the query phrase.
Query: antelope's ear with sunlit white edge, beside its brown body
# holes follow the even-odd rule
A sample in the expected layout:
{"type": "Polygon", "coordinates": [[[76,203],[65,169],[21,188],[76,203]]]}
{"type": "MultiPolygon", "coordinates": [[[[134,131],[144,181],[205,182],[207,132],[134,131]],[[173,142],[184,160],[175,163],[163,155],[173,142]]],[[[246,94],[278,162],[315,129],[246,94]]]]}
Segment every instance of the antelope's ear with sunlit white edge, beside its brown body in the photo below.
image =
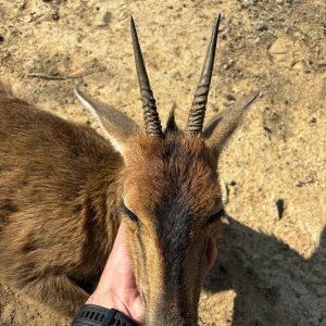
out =
{"type": "Polygon", "coordinates": [[[139,126],[115,108],[93,100],[80,90],[75,89],[75,93],[80,102],[99,117],[113,148],[124,156],[127,147],[140,134],[139,126]]]}

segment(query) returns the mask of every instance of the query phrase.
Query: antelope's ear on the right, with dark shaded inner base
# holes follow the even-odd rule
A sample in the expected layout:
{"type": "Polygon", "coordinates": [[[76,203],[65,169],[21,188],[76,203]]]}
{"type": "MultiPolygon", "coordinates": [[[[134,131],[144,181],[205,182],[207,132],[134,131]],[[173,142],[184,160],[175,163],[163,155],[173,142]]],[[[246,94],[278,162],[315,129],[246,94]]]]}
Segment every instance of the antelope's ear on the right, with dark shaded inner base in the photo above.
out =
{"type": "Polygon", "coordinates": [[[221,149],[235,129],[240,125],[248,109],[254,103],[259,95],[260,91],[254,91],[244,100],[217,113],[205,125],[203,129],[203,137],[206,139],[206,146],[216,159],[221,149]]]}

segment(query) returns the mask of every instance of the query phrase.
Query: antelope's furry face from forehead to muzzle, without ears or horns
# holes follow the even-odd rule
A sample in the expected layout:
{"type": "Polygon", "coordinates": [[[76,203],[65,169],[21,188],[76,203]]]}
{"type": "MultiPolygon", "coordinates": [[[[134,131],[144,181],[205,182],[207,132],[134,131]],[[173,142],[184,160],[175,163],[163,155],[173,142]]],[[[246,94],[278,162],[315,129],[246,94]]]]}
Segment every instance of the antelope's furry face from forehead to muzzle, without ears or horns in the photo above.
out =
{"type": "Polygon", "coordinates": [[[140,223],[129,226],[129,241],[147,298],[148,323],[192,325],[208,267],[205,241],[216,236],[220,225],[217,221],[206,226],[222,200],[210,153],[202,138],[167,130],[164,140],[140,137],[126,158],[123,197],[140,223]],[[136,261],[141,254],[142,264],[136,261]]]}

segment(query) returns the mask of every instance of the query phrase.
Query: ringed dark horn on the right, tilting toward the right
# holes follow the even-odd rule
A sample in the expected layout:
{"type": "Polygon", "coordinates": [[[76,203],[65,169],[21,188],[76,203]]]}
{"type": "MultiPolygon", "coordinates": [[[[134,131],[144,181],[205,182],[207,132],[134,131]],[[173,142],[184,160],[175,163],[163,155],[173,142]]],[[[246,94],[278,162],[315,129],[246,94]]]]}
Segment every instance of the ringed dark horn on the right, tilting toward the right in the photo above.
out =
{"type": "Polygon", "coordinates": [[[214,66],[220,21],[221,21],[221,14],[218,14],[218,16],[215,20],[208,54],[193,97],[190,113],[188,116],[188,122],[187,122],[187,127],[185,133],[189,136],[196,136],[202,133],[202,126],[203,126],[203,121],[204,121],[205,110],[206,110],[206,102],[208,102],[208,97],[210,91],[211,79],[212,79],[212,72],[214,66]]]}

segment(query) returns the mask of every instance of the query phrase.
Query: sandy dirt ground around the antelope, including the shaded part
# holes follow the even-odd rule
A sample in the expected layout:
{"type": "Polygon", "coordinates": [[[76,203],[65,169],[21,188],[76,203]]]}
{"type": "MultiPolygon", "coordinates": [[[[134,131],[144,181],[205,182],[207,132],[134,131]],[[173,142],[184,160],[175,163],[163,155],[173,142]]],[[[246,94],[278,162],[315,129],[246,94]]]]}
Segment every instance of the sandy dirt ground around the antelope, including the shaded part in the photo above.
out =
{"type": "MultiPolygon", "coordinates": [[[[184,124],[220,12],[206,115],[262,96],[221,158],[229,216],[200,324],[326,325],[324,0],[2,0],[0,77],[68,120],[98,128],[74,97],[79,87],[142,123],[133,15],[162,120],[175,105],[184,124]]],[[[0,283],[0,324],[68,321],[0,283]]]]}

